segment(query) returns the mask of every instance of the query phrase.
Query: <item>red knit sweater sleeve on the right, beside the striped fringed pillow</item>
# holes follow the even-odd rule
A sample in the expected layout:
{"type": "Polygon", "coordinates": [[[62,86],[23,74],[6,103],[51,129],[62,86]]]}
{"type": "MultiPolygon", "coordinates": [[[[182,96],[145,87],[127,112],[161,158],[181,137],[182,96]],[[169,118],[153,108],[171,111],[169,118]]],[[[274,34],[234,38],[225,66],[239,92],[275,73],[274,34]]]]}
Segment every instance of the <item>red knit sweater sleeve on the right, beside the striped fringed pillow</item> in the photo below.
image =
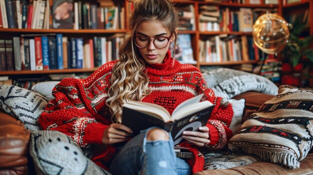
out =
{"type": "Polygon", "coordinates": [[[233,116],[231,104],[221,97],[216,97],[212,89],[207,88],[203,77],[199,80],[199,91],[204,93],[202,100],[213,103],[214,109],[206,124],[209,129],[210,143],[206,146],[210,149],[222,149],[232,137],[229,125],[233,116]]]}

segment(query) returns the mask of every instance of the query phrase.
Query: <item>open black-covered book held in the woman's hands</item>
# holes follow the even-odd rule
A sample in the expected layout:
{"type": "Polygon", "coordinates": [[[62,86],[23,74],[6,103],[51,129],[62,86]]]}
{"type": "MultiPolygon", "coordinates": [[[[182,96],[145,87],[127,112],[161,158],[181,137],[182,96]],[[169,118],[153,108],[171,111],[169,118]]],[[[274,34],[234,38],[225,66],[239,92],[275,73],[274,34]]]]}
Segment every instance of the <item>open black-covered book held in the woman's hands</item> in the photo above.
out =
{"type": "Polygon", "coordinates": [[[139,134],[141,130],[157,126],[170,132],[174,145],[177,145],[183,141],[183,131],[197,131],[207,123],[214,105],[209,101],[200,102],[202,96],[203,94],[200,94],[182,102],[172,115],[156,104],[129,101],[123,105],[121,124],[129,127],[134,135],[139,134]]]}

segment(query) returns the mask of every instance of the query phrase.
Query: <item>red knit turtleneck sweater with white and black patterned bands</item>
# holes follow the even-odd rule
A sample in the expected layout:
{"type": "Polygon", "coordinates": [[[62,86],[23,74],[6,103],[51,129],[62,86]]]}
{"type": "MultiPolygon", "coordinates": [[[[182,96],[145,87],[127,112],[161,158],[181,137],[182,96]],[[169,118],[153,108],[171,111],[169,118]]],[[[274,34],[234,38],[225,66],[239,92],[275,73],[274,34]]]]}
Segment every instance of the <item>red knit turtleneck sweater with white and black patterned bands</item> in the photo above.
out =
{"type": "MultiPolygon", "coordinates": [[[[102,65],[86,79],[63,79],[52,90],[55,97],[50,101],[39,117],[39,124],[44,130],[56,130],[70,136],[81,147],[90,144],[102,145],[94,150],[92,161],[107,170],[116,148],[114,145],[103,146],[103,131],[111,124],[108,107],[107,89],[110,87],[112,67],[116,61],[102,65]]],[[[208,149],[221,149],[232,136],[229,124],[233,115],[231,105],[224,99],[215,97],[206,87],[201,72],[189,64],[180,64],[167,52],[165,63],[147,65],[148,87],[152,92],[142,99],[143,102],[155,103],[172,113],[181,102],[204,93],[202,100],[209,100],[215,107],[210,120],[210,144],[208,149]],[[172,67],[172,61],[174,66],[172,67]]],[[[189,161],[193,173],[203,170],[204,159],[191,143],[182,143],[195,154],[189,161]]]]}

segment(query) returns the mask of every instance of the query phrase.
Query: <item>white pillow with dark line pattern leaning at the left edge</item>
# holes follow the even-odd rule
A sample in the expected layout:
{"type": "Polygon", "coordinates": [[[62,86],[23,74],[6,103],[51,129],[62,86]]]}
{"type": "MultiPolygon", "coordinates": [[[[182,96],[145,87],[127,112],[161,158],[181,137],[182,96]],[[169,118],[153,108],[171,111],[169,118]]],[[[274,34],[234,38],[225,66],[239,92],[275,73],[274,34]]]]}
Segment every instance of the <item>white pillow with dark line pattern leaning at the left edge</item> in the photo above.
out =
{"type": "Polygon", "coordinates": [[[29,131],[41,130],[37,120],[47,103],[38,93],[14,85],[0,85],[0,109],[20,120],[29,131]]]}

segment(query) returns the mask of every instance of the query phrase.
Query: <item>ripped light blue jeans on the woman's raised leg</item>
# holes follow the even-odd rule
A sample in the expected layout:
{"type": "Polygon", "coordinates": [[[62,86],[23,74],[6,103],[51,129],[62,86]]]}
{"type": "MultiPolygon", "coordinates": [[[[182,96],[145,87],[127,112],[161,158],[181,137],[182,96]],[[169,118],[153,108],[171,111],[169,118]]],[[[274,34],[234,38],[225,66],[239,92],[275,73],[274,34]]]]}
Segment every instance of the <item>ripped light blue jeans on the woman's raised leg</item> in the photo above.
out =
{"type": "Polygon", "coordinates": [[[110,172],[113,175],[191,175],[190,166],[176,158],[173,140],[147,141],[151,128],[128,141],[115,155],[110,172]]]}

